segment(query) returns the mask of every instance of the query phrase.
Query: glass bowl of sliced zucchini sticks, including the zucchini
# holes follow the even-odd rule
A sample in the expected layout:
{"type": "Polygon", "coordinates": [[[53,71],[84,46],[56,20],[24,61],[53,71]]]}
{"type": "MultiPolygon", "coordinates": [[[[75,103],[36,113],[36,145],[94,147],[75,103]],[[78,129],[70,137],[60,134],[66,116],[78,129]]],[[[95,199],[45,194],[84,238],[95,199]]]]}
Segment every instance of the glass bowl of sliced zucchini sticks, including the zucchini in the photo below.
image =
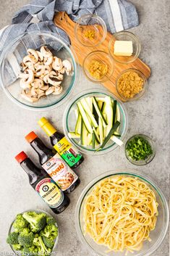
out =
{"type": "Polygon", "coordinates": [[[122,146],[127,111],[116,96],[103,89],[77,94],[63,117],[65,136],[84,154],[105,154],[122,146]]]}

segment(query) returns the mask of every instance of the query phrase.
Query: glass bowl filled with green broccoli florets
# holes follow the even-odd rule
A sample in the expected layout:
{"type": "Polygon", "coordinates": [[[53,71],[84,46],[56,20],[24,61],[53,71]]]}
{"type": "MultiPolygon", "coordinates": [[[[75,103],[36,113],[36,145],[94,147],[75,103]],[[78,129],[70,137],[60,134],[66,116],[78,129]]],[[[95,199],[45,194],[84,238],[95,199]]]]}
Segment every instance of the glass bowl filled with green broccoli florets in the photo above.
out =
{"type": "Polygon", "coordinates": [[[43,210],[27,210],[17,214],[7,236],[7,244],[16,255],[51,255],[58,241],[56,220],[43,210]]]}

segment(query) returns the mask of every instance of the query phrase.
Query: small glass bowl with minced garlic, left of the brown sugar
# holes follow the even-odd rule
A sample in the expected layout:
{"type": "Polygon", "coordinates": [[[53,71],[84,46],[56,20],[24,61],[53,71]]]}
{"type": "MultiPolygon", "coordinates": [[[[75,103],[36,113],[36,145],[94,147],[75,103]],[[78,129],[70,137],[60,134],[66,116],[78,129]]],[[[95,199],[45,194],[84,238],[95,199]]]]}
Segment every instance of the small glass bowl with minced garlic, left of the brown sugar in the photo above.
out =
{"type": "Polygon", "coordinates": [[[88,80],[102,83],[114,73],[114,60],[105,51],[93,51],[85,57],[82,67],[88,80]]]}

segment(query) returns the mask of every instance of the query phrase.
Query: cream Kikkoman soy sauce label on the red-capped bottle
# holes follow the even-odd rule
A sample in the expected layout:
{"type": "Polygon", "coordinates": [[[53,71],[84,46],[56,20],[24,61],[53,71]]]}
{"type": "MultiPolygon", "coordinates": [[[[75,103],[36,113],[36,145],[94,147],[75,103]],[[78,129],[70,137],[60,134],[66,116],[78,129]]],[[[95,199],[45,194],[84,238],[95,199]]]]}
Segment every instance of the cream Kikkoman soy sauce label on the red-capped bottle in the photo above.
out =
{"type": "Polygon", "coordinates": [[[52,178],[43,178],[35,186],[35,191],[41,196],[46,204],[51,208],[56,208],[63,202],[64,194],[52,178]]]}

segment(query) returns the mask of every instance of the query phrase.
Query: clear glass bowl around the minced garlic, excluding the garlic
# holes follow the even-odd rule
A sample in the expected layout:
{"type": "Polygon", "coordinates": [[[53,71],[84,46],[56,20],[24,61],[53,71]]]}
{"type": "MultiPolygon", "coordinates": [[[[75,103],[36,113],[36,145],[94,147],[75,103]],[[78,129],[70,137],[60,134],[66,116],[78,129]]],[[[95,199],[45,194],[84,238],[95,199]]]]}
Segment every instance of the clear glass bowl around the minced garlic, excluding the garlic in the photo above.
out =
{"type": "Polygon", "coordinates": [[[88,78],[88,80],[92,81],[93,83],[102,83],[106,82],[106,80],[109,80],[109,78],[111,78],[111,75],[114,73],[114,59],[105,51],[92,51],[90,52],[90,54],[88,54],[88,56],[85,57],[82,63],[82,67],[84,74],[86,78],[88,78]],[[90,62],[94,60],[101,62],[103,65],[107,66],[106,74],[98,79],[94,78],[89,72],[90,62]]]}

